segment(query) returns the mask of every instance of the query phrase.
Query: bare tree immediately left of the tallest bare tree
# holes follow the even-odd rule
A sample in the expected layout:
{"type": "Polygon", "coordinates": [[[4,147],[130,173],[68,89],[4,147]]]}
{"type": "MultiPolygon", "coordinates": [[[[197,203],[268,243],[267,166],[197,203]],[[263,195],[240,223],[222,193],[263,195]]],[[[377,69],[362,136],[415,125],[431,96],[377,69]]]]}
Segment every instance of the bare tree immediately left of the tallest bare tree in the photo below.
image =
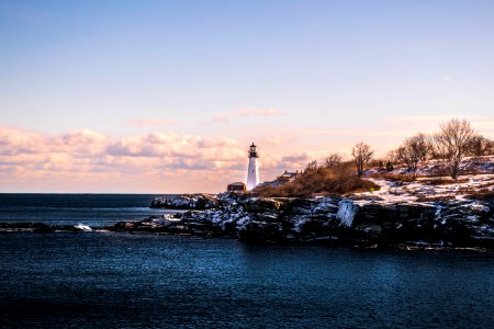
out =
{"type": "Polygon", "coordinates": [[[396,159],[401,162],[404,162],[415,178],[418,163],[420,161],[426,161],[430,154],[430,138],[427,135],[419,133],[411,138],[405,139],[403,145],[396,150],[396,159]]]}

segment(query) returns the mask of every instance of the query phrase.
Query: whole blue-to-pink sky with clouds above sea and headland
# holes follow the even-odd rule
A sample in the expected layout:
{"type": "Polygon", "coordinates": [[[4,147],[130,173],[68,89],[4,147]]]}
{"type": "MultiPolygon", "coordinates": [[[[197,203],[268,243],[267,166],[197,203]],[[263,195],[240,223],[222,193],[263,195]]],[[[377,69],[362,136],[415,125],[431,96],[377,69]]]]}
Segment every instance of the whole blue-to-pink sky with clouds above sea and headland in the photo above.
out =
{"type": "Polygon", "coordinates": [[[0,0],[0,192],[221,192],[465,118],[494,1],[0,0]]]}

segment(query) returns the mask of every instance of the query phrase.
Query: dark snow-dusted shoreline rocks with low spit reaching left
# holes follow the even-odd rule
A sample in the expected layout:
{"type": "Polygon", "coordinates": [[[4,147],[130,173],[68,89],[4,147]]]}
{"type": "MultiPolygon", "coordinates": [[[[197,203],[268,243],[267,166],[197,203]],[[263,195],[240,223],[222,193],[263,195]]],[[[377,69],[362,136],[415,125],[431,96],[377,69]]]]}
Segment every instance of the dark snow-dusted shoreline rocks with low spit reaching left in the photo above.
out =
{"type": "Polygon", "coordinates": [[[181,209],[110,227],[0,224],[1,231],[145,231],[254,243],[398,249],[494,249],[494,200],[382,203],[371,196],[267,198],[187,194],[151,207],[181,209]]]}

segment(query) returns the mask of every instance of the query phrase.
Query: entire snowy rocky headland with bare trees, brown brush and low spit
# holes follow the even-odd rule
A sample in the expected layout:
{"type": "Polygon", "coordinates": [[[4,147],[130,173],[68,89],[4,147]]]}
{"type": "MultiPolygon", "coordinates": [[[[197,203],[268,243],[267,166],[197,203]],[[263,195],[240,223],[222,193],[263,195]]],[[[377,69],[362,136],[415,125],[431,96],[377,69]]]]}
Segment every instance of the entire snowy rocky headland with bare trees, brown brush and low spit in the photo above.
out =
{"type": "Polygon", "coordinates": [[[254,243],[362,249],[494,250],[494,143],[465,121],[407,138],[384,159],[359,143],[352,161],[329,155],[295,179],[251,192],[153,200],[178,209],[89,228],[0,224],[0,231],[109,230],[235,238],[254,243]]]}

